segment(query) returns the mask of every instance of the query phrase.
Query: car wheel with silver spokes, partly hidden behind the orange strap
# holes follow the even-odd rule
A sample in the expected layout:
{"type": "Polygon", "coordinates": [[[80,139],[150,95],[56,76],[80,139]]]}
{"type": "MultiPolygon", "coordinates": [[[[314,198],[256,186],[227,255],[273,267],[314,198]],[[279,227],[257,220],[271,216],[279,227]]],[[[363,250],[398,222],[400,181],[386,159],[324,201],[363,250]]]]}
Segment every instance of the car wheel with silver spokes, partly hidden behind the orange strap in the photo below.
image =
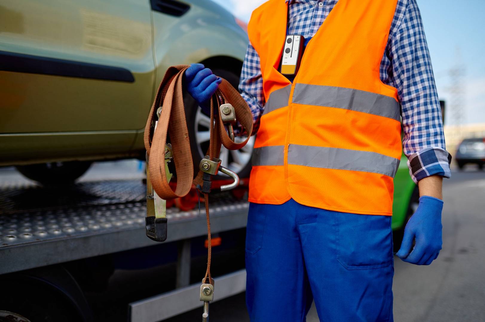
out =
{"type": "MultiPolygon", "coordinates": [[[[239,76],[233,72],[212,69],[213,73],[217,76],[225,78],[232,86],[237,88],[239,84],[239,76]]],[[[186,93],[184,95],[184,104],[186,107],[187,127],[189,130],[189,137],[191,142],[192,157],[194,159],[194,169],[196,169],[194,175],[198,172],[199,163],[204,158],[205,153],[209,149],[210,139],[210,117],[202,113],[202,110],[197,106],[197,103],[186,93]]],[[[236,137],[236,142],[242,142],[245,140],[245,136],[236,137]]],[[[247,144],[240,150],[227,150],[224,146],[221,148],[220,159],[221,165],[227,169],[230,169],[238,174],[240,178],[246,178],[251,171],[251,156],[253,154],[255,137],[253,136],[247,142],[247,144]]],[[[218,175],[217,179],[228,179],[226,175],[218,175]]]]}

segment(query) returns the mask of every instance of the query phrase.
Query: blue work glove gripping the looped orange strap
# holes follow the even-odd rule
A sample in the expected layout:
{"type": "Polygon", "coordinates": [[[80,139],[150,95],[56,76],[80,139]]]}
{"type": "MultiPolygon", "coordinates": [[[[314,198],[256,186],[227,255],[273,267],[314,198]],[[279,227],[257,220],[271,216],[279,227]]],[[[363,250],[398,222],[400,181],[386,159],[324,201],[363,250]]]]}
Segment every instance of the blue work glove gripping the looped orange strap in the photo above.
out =
{"type": "Polygon", "coordinates": [[[203,64],[192,64],[185,71],[184,85],[206,115],[210,115],[210,97],[215,93],[221,77],[217,77],[203,64]]]}

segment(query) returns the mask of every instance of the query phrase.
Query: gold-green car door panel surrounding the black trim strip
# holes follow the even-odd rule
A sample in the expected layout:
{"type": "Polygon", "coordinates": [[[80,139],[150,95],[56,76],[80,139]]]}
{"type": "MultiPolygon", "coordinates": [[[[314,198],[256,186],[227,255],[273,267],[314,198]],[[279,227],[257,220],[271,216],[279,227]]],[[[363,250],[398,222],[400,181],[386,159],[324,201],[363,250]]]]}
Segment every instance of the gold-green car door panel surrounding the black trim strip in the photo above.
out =
{"type": "Polygon", "coordinates": [[[147,84],[153,84],[155,69],[147,1],[25,0],[2,6],[17,17],[6,20],[2,50],[123,67],[135,78],[0,72],[2,133],[137,129],[133,119],[146,117],[140,110],[150,103],[147,84]]]}

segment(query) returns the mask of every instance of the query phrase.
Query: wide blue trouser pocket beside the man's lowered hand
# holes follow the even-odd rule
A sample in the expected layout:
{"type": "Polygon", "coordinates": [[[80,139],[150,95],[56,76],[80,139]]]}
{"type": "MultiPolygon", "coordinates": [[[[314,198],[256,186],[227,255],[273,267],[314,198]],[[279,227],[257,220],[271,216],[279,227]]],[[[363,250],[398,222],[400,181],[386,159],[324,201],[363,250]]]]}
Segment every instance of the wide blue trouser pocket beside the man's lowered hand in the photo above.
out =
{"type": "Polygon", "coordinates": [[[335,214],[337,260],[346,269],[392,263],[391,216],[335,214]]]}

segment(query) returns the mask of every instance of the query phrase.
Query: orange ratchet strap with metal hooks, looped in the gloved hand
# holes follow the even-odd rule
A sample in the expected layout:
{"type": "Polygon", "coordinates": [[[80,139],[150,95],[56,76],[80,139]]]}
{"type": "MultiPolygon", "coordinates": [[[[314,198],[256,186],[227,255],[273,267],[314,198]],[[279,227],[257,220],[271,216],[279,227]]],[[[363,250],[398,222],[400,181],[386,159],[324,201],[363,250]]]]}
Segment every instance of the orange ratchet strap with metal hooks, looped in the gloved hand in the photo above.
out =
{"type": "MultiPolygon", "coordinates": [[[[253,116],[239,92],[226,79],[222,78],[218,90],[210,99],[210,124],[213,124],[213,126],[210,126],[209,150],[206,153],[206,157],[201,161],[199,172],[194,179],[194,166],[183,104],[183,75],[188,67],[188,65],[177,65],[168,68],[158,88],[153,106],[150,109],[144,136],[147,159],[147,189],[152,186],[161,199],[173,199],[187,195],[192,184],[194,184],[204,195],[207,218],[208,261],[206,275],[201,286],[201,301],[204,301],[203,317],[207,320],[209,316],[209,301],[213,298],[213,279],[210,276],[210,178],[212,175],[217,174],[218,171],[221,171],[235,179],[235,183],[221,186],[221,190],[228,190],[237,185],[239,182],[237,175],[220,166],[219,153],[221,152],[221,144],[229,150],[241,149],[247,143],[250,137],[249,134],[253,131],[253,116]],[[242,124],[248,133],[248,137],[241,143],[234,142],[232,134],[232,124],[237,121],[242,124]],[[154,124],[157,125],[154,126],[154,124]],[[225,124],[229,125],[229,134],[227,134],[225,124]],[[167,134],[170,137],[171,151],[166,150],[167,134]],[[166,179],[165,158],[167,153],[171,153],[175,163],[177,173],[175,191],[172,190],[166,179]]],[[[148,215],[150,215],[150,211],[148,211],[148,215]]],[[[156,236],[154,236],[157,229],[155,217],[151,215],[146,218],[147,236],[157,241],[165,240],[166,218],[157,218],[164,219],[162,226],[165,231],[164,234],[161,234],[161,239],[156,239],[156,236]]]]}

